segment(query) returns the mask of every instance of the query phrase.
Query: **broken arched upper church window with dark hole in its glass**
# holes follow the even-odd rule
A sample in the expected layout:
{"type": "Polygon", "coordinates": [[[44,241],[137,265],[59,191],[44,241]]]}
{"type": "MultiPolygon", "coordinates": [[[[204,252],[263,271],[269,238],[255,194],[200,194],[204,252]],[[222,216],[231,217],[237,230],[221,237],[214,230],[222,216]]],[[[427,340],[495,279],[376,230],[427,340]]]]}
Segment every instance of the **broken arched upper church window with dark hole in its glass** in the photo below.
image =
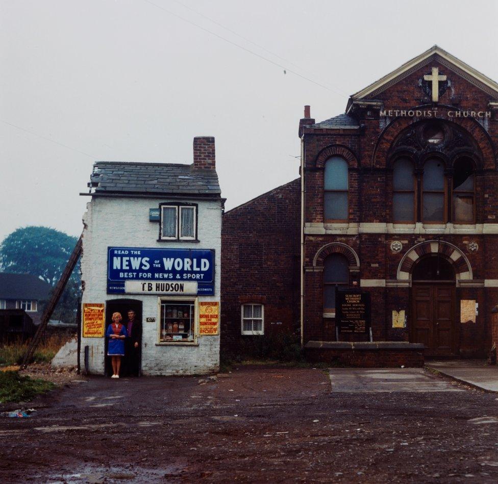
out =
{"type": "Polygon", "coordinates": [[[474,163],[462,157],[453,168],[453,221],[475,223],[474,163]]]}

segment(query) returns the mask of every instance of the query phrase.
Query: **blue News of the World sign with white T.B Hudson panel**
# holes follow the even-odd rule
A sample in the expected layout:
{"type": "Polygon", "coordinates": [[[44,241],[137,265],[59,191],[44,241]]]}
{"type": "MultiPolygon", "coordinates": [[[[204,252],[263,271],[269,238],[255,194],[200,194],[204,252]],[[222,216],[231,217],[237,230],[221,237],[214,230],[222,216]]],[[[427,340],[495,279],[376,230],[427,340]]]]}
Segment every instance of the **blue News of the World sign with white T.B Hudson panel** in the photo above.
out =
{"type": "Polygon", "coordinates": [[[214,250],[108,247],[108,294],[214,294],[214,250]]]}

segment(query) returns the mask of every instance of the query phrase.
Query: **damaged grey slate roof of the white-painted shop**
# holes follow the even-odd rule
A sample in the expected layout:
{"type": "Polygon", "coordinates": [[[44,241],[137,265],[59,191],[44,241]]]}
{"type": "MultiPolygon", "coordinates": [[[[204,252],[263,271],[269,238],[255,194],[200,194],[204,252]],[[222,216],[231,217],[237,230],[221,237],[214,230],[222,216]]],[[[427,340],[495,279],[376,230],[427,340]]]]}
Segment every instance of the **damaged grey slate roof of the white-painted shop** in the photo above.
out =
{"type": "Polygon", "coordinates": [[[221,194],[216,170],[193,164],[97,161],[89,187],[95,194],[221,194]]]}

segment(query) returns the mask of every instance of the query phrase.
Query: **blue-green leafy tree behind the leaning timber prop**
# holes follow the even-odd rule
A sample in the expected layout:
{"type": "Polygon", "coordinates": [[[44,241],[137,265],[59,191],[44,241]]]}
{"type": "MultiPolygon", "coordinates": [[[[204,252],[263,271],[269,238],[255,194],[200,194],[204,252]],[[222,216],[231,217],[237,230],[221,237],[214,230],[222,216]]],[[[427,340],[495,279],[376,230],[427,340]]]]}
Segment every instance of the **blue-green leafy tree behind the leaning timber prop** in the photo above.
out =
{"type": "MultiPolygon", "coordinates": [[[[0,244],[0,270],[33,274],[55,286],[66,267],[77,237],[49,227],[29,226],[18,228],[0,244]]],[[[52,316],[64,322],[73,322],[81,290],[80,263],[59,299],[52,316]]]]}

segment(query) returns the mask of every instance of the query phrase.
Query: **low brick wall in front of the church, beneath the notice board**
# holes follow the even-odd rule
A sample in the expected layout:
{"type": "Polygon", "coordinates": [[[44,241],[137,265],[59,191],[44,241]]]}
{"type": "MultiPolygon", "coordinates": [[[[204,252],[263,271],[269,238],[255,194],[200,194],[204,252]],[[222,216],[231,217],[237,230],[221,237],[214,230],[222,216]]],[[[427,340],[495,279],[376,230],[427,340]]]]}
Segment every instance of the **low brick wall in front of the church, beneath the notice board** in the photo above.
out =
{"type": "Polygon", "coordinates": [[[424,345],[419,343],[309,341],[305,345],[305,355],[309,362],[334,363],[359,368],[424,366],[424,345]]]}

